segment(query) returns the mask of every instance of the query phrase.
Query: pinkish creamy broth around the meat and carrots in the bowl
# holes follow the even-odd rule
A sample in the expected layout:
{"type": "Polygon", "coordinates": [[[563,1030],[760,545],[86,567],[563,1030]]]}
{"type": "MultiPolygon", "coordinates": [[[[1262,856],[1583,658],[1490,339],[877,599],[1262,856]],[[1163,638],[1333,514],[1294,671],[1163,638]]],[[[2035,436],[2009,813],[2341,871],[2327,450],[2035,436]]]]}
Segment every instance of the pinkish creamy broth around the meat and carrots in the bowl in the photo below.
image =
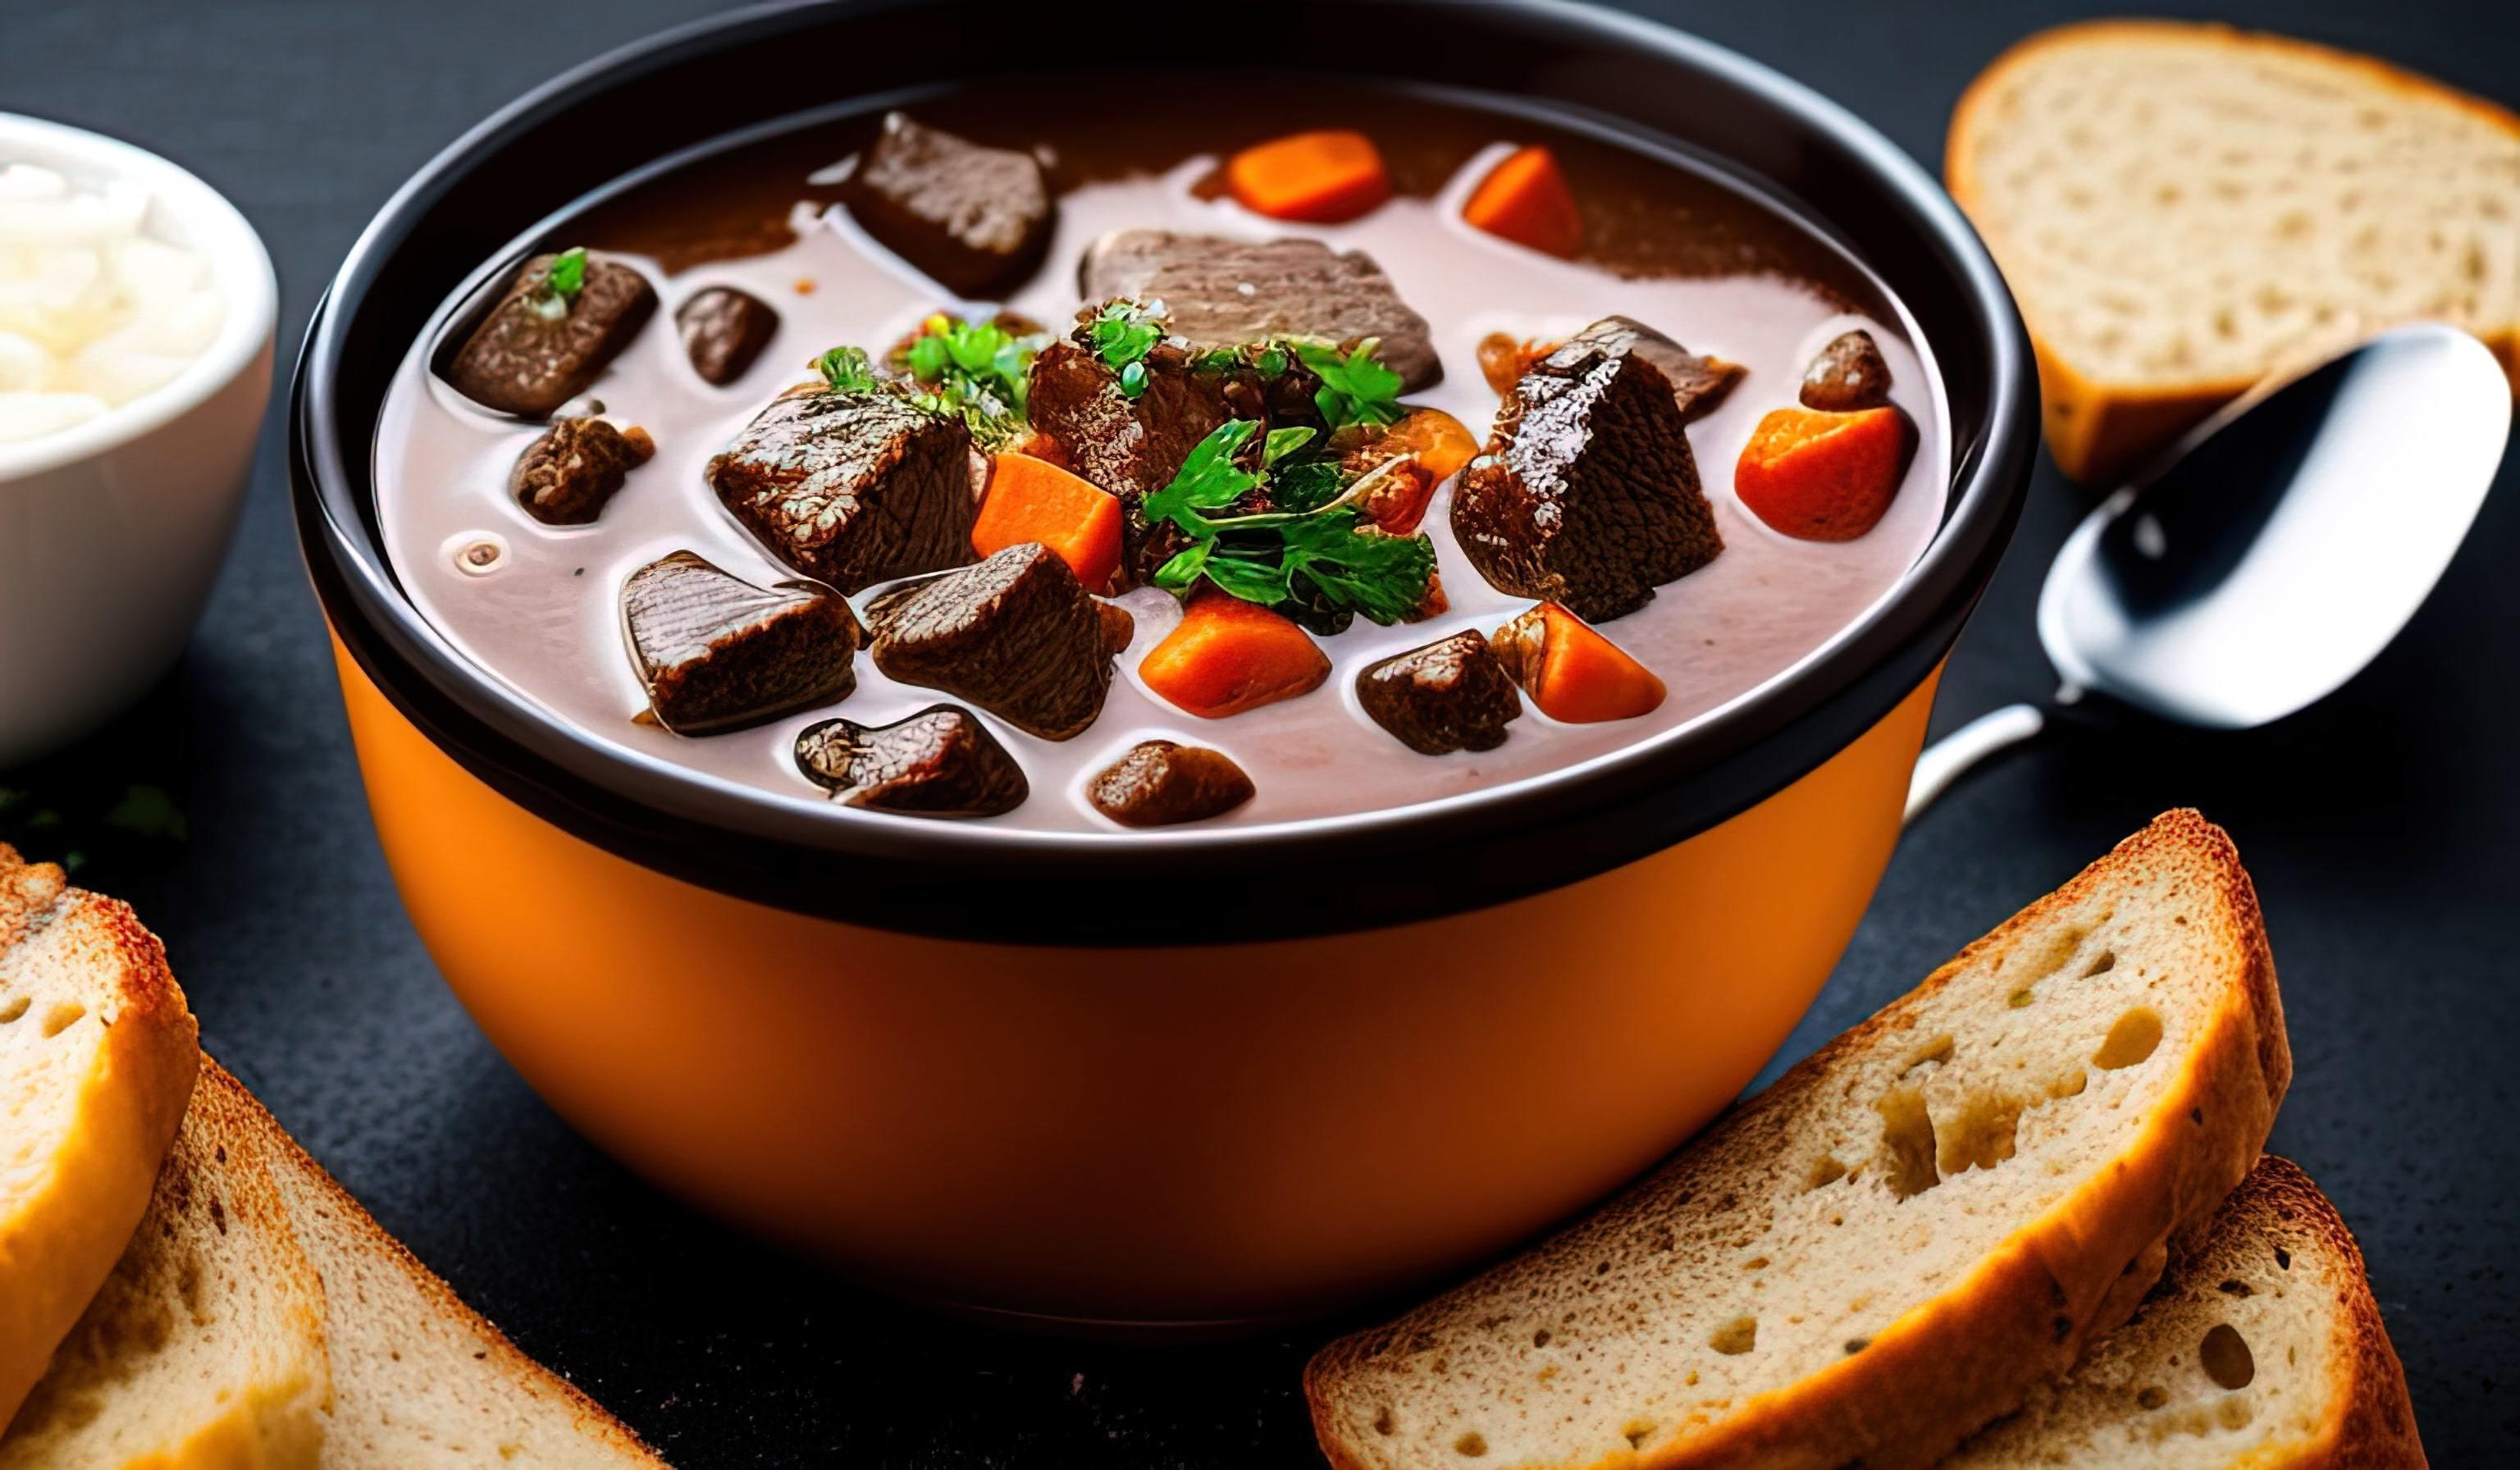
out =
{"type": "MultiPolygon", "coordinates": [[[[1504,126],[1504,124],[1499,124],[1504,126]]],[[[1373,214],[1336,227],[1283,224],[1192,189],[1212,159],[1189,159],[1164,177],[1086,184],[1061,197],[1058,232],[1033,280],[1003,305],[1053,330],[1076,308],[1076,260],[1111,229],[1159,227],[1275,240],[1313,234],[1338,250],[1366,250],[1391,275],[1401,298],[1434,328],[1444,361],[1436,388],[1414,403],[1446,408],[1484,436],[1497,396],[1477,366],[1482,335],[1555,338],[1603,315],[1630,315],[1696,353],[1744,363],[1749,376],[1721,408],[1688,431],[1698,477],[1726,550],[1709,567],[1668,582],[1643,610],[1603,633],[1653,668],[1671,688],[1651,716],[1618,724],[1555,724],[1525,701],[1494,751],[1421,756],[1401,746],[1356,703],[1361,668],[1462,628],[1492,630],[1532,603],[1489,587],[1462,557],[1449,530],[1449,487],[1436,492],[1424,530],[1452,610],[1426,620],[1323,638],[1333,673],[1318,691],[1225,721],[1202,721],[1149,693],[1137,666],[1172,628],[1177,605],[1137,590],[1121,605],[1137,615],[1137,638],[1119,656],[1101,719],[1071,741],[1043,741],[978,711],[1031,777],[1031,799],[985,825],[1109,832],[1144,840],[1099,817],[1084,799],[1094,772],[1142,739],[1205,744],[1230,754],[1257,784],[1245,807],[1200,827],[1265,827],[1310,817],[1441,802],[1467,792],[1545,777],[1608,759],[1638,741],[1671,739],[1711,711],[1787,676],[1875,608],[1915,565],[1943,519],[1950,479],[1948,414],[1938,376],[1915,345],[1913,323],[1852,318],[1814,287],[1777,275],[1716,280],[1630,280],[1608,270],[1535,255],[1459,219],[1462,197],[1502,156],[1504,144],[1472,159],[1434,199],[1394,199],[1373,214]],[[1734,499],[1731,472],[1751,429],[1769,408],[1794,406],[1802,371],[1837,333],[1862,325],[1880,343],[1895,378],[1893,398],[1920,426],[1920,449],[1887,517],[1842,545],[1799,542],[1759,524],[1734,499]]],[[[796,572],[776,562],[718,504],[703,466],[781,388],[804,381],[824,348],[854,343],[879,353],[920,318],[953,305],[932,282],[869,242],[844,209],[799,209],[796,242],[774,255],[698,265],[665,275],[653,260],[615,257],[658,287],[655,320],[590,391],[622,424],[645,426],[658,456],[590,527],[547,527],[509,494],[517,456],[539,424],[501,419],[466,403],[428,371],[436,340],[413,343],[398,368],[375,444],[375,484],[386,550],[416,608],[486,678],[504,683],[552,716],[633,759],[685,767],[748,787],[834,822],[905,822],[832,802],[794,764],[801,729],[847,716],[890,724],[940,691],[885,678],[859,653],[857,691],[827,709],[799,711],[748,731],[673,736],[635,724],[645,693],[630,668],[620,630],[620,585],[640,565],[693,550],[753,580],[796,572]],[[693,373],[673,330],[673,310],[711,285],[736,285],[781,313],[776,338],[743,381],[713,388],[693,373]],[[484,572],[479,542],[501,555],[484,572]],[[471,552],[471,555],[466,555],[471,552]]],[[[592,242],[600,245],[600,242],[592,242]]],[[[998,303],[963,303],[985,315],[998,303]]],[[[577,403],[567,411],[582,411],[577,403]]]]}

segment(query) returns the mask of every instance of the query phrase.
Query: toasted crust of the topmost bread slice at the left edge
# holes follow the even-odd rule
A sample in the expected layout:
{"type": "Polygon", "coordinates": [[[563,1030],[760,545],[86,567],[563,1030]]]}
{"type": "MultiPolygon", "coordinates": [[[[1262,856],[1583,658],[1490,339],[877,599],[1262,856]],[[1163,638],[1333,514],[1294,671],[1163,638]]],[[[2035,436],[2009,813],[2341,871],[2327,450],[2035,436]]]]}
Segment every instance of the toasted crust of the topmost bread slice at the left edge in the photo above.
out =
{"type": "Polygon", "coordinates": [[[113,1011],[48,1178],[0,1213],[0,1425],[121,1261],[184,1122],[199,1056],[166,948],[131,908],[0,842],[0,953],[38,935],[58,940],[63,961],[88,971],[83,991],[111,996],[113,1011]]]}

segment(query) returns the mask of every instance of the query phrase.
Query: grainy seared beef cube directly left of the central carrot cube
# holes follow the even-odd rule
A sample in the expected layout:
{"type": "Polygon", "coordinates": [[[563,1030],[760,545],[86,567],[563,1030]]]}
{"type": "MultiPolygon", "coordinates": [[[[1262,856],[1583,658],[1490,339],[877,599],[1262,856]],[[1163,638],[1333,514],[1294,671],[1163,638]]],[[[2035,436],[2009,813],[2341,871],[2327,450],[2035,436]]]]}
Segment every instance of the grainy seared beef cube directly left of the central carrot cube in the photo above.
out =
{"type": "Polygon", "coordinates": [[[774,398],[708,484],[774,557],[842,593],[960,567],[980,514],[960,419],[819,383],[774,398]]]}

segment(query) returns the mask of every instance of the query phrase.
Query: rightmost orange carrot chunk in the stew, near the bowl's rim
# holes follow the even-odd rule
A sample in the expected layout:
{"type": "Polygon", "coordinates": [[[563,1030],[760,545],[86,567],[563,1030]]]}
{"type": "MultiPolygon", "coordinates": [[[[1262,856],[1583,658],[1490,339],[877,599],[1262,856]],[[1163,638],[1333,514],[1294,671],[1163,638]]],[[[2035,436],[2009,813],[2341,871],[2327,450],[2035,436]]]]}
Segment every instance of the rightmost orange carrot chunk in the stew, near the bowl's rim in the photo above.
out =
{"type": "Polygon", "coordinates": [[[1852,542],[1890,509],[1910,454],[1915,424],[1898,408],[1777,408],[1741,446],[1734,494],[1789,537],[1852,542]]]}

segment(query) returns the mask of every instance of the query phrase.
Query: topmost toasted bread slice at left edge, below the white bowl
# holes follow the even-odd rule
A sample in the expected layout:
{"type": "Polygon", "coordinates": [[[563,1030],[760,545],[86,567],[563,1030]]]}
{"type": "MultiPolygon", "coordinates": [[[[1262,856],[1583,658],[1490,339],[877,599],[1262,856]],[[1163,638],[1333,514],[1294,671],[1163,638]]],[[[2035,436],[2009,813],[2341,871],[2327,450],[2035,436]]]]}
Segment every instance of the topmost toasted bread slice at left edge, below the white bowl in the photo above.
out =
{"type": "Polygon", "coordinates": [[[194,1036],[131,910],[0,842],[0,1425],[149,1208],[194,1036]]]}

